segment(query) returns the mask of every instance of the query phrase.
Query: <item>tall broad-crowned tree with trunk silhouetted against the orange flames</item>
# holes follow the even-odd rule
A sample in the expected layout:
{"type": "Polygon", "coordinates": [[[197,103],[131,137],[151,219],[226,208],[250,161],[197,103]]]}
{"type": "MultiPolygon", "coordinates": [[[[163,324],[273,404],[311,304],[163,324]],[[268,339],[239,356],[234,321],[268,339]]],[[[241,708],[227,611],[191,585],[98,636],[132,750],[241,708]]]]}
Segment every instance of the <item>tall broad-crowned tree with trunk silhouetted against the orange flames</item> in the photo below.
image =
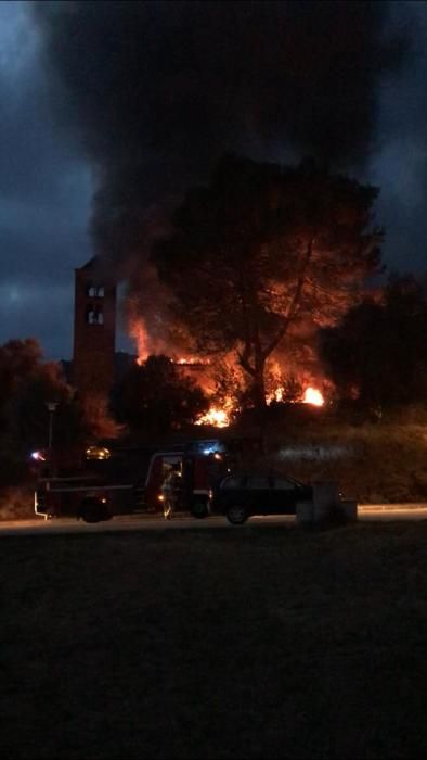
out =
{"type": "Polygon", "coordinates": [[[266,404],[269,356],[293,326],[322,325],[355,300],[378,270],[381,230],[372,228],[377,189],[297,167],[225,156],[210,185],[174,215],[153,261],[171,308],[206,354],[236,350],[254,404],[266,404]]]}

